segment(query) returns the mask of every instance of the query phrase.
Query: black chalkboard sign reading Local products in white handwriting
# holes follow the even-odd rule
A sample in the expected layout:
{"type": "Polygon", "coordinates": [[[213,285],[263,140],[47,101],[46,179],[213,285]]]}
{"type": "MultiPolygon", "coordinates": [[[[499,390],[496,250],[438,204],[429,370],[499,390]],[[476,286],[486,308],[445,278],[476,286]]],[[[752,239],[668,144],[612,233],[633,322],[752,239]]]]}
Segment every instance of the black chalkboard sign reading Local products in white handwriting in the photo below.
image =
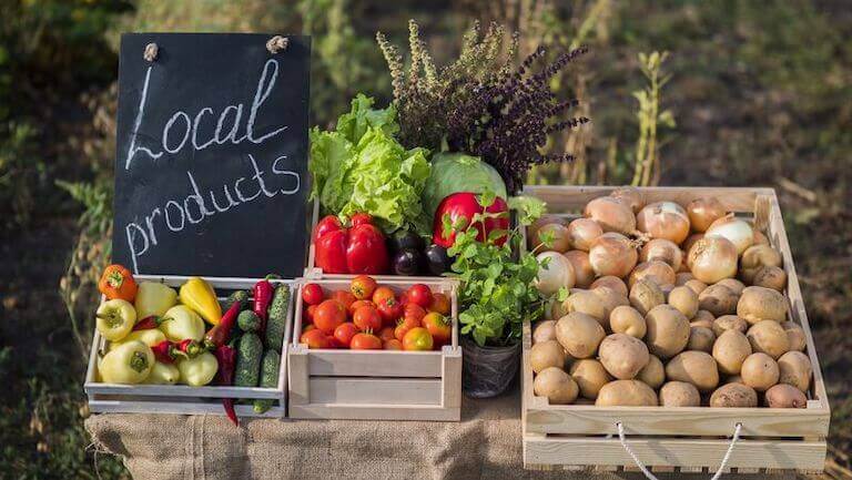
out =
{"type": "Polygon", "coordinates": [[[156,275],[302,274],[311,39],[287,37],[273,54],[272,37],[122,35],[113,262],[156,275]]]}

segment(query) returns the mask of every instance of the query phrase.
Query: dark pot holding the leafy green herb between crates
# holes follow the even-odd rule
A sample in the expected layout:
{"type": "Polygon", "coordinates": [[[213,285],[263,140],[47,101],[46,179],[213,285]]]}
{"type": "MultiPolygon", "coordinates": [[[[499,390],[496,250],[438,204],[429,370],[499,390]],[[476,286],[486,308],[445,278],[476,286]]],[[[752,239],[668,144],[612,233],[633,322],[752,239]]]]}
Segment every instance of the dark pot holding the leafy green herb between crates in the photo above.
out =
{"type": "Polygon", "coordinates": [[[480,347],[462,337],[462,389],[470,398],[496,397],[509,387],[518,372],[520,341],[507,347],[480,347]]]}

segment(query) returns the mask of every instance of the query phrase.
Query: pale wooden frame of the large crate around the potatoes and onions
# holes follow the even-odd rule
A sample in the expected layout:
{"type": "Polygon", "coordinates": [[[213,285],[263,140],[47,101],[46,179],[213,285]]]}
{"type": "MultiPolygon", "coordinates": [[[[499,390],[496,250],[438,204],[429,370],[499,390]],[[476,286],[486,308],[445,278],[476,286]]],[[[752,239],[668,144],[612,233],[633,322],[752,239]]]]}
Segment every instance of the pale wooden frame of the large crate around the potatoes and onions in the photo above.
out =
{"type": "MultiPolygon", "coordinates": [[[[526,194],[547,202],[549,212],[576,216],[588,201],[607,195],[615,188],[538,186],[527,187],[526,194]]],[[[813,367],[807,408],[549,405],[546,398],[536,397],[532,392],[529,365],[531,333],[527,324],[524,328],[521,367],[525,468],[638,470],[620,443],[616,423],[621,422],[628,445],[650,470],[713,472],[728,450],[736,425],[741,423],[740,440],[732,450],[727,470],[822,471],[830,420],[829,401],[774,191],[722,187],[653,187],[642,191],[648,203],[667,200],[686,205],[697,197],[714,196],[729,211],[750,217],[763,227],[772,246],[783,256],[788,274],[785,296],[791,305],[789,319],[798,323],[807,337],[807,354],[813,367]]]]}

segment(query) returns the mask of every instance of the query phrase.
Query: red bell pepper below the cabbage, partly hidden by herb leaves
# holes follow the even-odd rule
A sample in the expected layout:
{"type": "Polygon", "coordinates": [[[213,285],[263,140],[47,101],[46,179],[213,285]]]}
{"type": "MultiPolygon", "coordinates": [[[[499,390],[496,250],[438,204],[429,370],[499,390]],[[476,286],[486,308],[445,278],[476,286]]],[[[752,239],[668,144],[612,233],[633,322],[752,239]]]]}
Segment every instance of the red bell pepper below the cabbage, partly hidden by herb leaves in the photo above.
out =
{"type": "MultiPolygon", "coordinates": [[[[440,245],[444,248],[449,248],[456,241],[456,232],[452,232],[449,235],[444,235],[444,216],[449,215],[449,221],[453,225],[456,225],[462,218],[465,219],[464,225],[469,225],[474,215],[477,213],[490,213],[500,214],[496,218],[486,218],[485,222],[477,222],[474,227],[479,231],[476,239],[485,242],[488,238],[488,233],[496,229],[508,231],[509,229],[509,206],[506,201],[499,196],[494,198],[494,203],[488,208],[483,208],[479,205],[479,195],[470,192],[458,192],[452,195],[447,195],[440,201],[438,210],[435,212],[435,219],[432,225],[432,242],[436,245],[440,245]]],[[[463,228],[464,229],[464,228],[463,228]]],[[[496,245],[503,245],[506,243],[506,236],[501,236],[495,241],[496,245]]]]}

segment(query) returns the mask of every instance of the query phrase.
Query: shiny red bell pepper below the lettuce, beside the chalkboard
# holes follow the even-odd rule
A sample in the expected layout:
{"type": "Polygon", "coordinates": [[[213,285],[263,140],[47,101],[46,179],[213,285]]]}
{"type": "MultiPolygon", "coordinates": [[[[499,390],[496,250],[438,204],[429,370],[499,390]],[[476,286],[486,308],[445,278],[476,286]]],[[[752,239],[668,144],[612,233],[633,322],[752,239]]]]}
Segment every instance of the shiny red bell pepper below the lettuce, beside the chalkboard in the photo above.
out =
{"type": "Polygon", "coordinates": [[[385,235],[372,222],[364,213],[353,215],[349,228],[333,215],[320,221],[314,232],[316,266],[326,274],[386,273],[389,259],[385,235]]]}

